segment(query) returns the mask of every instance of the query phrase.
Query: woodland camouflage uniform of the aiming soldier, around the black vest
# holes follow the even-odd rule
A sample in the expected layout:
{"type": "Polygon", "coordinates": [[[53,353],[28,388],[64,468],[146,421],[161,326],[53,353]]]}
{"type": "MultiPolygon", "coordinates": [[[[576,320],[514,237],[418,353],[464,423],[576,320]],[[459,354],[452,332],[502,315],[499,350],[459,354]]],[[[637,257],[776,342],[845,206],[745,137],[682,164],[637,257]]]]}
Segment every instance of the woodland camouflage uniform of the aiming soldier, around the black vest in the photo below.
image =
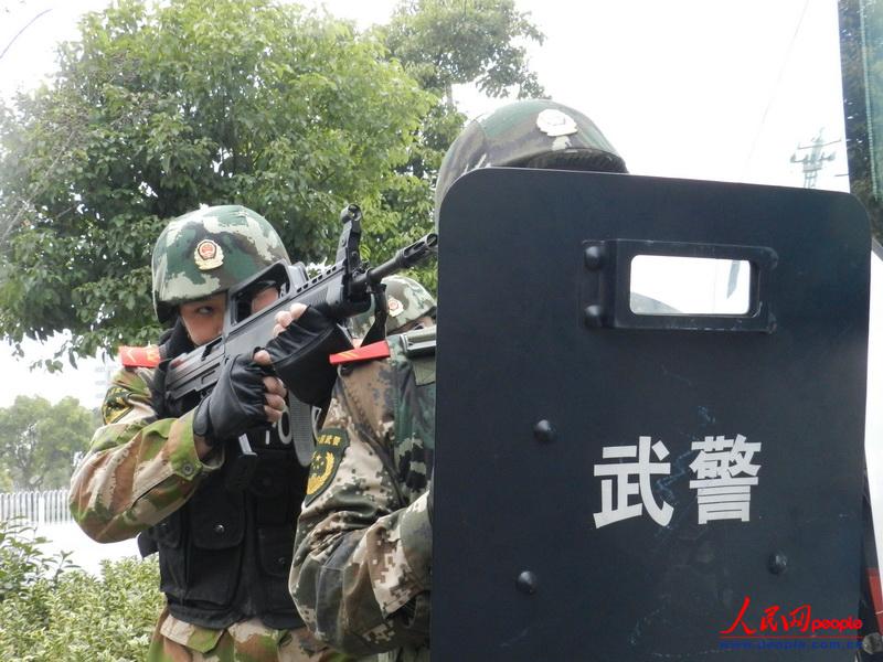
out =
{"type": "MultiPolygon", "coordinates": [[[[152,377],[153,371],[146,369],[124,369],[114,376],[102,406],[104,426],[95,433],[71,480],[71,512],[81,528],[98,542],[134,537],[166,519],[223,462],[223,451],[205,462],[196,456],[192,412],[181,418],[157,419],[148,386],[152,377]]],[[[149,659],[177,659],[162,652],[163,645],[185,647],[188,654],[195,651],[217,660],[233,659],[232,651],[219,652],[222,645],[242,654],[254,653],[255,647],[266,652],[254,660],[342,659],[318,643],[313,650],[298,648],[308,643],[306,630],[291,632],[294,643],[291,637],[285,637],[283,651],[284,634],[256,619],[222,630],[202,628],[167,610],[157,626],[149,659]],[[288,650],[292,648],[296,650],[288,650]]]]}

